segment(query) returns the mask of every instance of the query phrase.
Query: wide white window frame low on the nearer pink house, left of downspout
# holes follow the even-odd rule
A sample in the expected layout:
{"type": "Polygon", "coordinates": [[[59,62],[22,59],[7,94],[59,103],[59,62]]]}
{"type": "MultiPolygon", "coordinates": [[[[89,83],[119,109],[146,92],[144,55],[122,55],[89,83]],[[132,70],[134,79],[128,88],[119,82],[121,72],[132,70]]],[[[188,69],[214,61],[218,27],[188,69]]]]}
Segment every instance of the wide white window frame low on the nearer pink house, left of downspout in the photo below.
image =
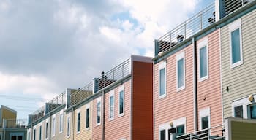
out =
{"type": "MultiPolygon", "coordinates": [[[[165,130],[165,139],[168,139],[168,135],[169,135],[168,130],[170,128],[176,128],[177,126],[180,126],[180,125],[184,125],[184,133],[187,133],[187,131],[186,131],[186,129],[187,129],[186,120],[187,120],[186,117],[180,117],[180,118],[172,121],[173,126],[170,126],[170,122],[162,123],[161,125],[159,125],[158,139],[160,139],[160,134],[161,134],[162,130],[165,130]]],[[[176,128],[176,131],[177,131],[177,128],[176,128]]]]}

